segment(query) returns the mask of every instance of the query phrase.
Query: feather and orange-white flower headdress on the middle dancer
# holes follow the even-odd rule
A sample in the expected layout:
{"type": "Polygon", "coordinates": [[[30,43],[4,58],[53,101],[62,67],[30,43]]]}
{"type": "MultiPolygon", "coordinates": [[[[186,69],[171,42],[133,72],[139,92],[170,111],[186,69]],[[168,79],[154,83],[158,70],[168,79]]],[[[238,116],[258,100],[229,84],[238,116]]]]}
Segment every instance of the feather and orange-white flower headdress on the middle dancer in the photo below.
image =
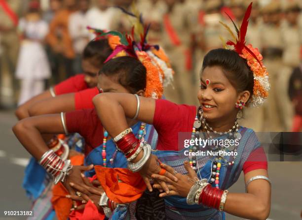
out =
{"type": "Polygon", "coordinates": [[[115,45],[113,53],[107,58],[118,56],[130,56],[140,60],[147,69],[147,86],[145,95],[147,97],[161,98],[163,87],[167,86],[173,80],[174,71],[171,68],[168,57],[162,48],[158,45],[150,45],[147,42],[147,34],[150,25],[144,25],[142,15],[133,7],[133,13],[125,9],[121,10],[136,18],[133,24],[131,34],[125,34],[118,31],[108,31],[101,34],[118,36],[120,42],[115,45]],[[139,40],[136,40],[139,39],[139,40]]]}

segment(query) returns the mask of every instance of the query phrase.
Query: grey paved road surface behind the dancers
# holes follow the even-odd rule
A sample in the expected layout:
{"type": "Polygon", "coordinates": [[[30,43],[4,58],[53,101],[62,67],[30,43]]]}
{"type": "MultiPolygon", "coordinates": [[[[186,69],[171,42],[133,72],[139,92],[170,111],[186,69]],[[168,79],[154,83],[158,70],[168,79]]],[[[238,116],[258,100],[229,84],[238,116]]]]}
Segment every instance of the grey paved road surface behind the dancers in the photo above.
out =
{"type": "MultiPolygon", "coordinates": [[[[24,167],[29,154],[11,131],[16,123],[12,111],[0,112],[0,220],[3,211],[29,210],[30,201],[21,187],[24,167]]],[[[302,162],[269,162],[269,177],[273,182],[270,220],[300,220],[302,211],[302,162]]],[[[229,189],[244,192],[243,176],[229,189]]],[[[227,220],[241,220],[227,214],[227,220]]]]}

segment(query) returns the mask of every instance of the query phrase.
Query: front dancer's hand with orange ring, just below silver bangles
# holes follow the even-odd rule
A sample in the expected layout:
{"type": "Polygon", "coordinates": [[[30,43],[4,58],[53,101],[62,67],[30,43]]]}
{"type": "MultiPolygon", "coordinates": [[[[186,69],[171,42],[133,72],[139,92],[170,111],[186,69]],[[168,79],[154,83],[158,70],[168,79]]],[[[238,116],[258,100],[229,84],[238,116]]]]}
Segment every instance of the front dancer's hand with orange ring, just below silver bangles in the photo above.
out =
{"type": "MultiPolygon", "coordinates": [[[[147,163],[143,166],[143,168],[139,171],[141,176],[143,177],[144,182],[147,185],[147,188],[149,191],[152,191],[151,183],[150,183],[150,178],[152,177],[153,174],[159,174],[161,173],[164,177],[167,177],[174,182],[177,182],[177,177],[174,176],[173,174],[166,172],[164,168],[160,167],[160,162],[158,158],[155,155],[151,155],[147,163]]],[[[169,194],[169,188],[167,184],[163,181],[155,181],[161,189],[163,189],[167,194],[169,194]]]]}

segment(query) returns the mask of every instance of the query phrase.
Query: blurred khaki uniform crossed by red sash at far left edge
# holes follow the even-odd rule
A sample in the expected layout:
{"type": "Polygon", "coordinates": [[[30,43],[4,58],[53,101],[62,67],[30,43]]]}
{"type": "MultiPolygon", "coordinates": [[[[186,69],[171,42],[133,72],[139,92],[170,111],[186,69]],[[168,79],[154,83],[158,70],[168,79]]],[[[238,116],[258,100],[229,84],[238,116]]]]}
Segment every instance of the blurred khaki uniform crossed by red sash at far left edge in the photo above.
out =
{"type": "MultiPolygon", "coordinates": [[[[6,0],[10,8],[19,14],[22,1],[20,0],[6,0]]],[[[14,71],[18,58],[19,38],[16,28],[9,18],[9,16],[0,8],[0,24],[10,31],[0,32],[1,50],[0,55],[0,77],[1,77],[1,91],[2,102],[6,105],[15,104],[15,91],[17,90],[17,82],[14,80],[14,71]]]]}

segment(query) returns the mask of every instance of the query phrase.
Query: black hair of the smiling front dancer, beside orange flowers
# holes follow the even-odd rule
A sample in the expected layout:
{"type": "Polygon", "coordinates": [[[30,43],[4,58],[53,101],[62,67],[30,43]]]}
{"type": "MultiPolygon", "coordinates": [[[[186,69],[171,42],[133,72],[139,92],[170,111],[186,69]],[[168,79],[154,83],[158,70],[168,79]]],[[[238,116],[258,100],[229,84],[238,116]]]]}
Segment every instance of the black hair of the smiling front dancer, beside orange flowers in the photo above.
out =
{"type": "Polygon", "coordinates": [[[247,61],[234,50],[214,49],[207,53],[202,63],[203,70],[211,66],[220,66],[237,93],[249,91],[253,95],[254,75],[247,61]]]}

